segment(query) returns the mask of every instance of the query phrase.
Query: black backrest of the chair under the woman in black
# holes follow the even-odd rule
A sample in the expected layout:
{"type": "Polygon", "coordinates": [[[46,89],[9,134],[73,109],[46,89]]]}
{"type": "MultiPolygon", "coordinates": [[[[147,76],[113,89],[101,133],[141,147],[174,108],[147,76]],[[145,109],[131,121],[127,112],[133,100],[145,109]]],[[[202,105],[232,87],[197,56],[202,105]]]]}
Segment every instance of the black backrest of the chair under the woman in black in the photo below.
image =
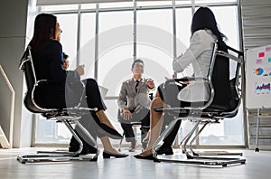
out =
{"type": "Polygon", "coordinates": [[[27,47],[26,51],[23,53],[19,69],[22,70],[24,73],[24,78],[27,87],[27,91],[23,100],[25,108],[27,108],[29,111],[33,113],[45,113],[47,111],[51,111],[51,109],[39,107],[33,99],[33,92],[38,82],[33,67],[33,58],[30,46],[27,47]]]}

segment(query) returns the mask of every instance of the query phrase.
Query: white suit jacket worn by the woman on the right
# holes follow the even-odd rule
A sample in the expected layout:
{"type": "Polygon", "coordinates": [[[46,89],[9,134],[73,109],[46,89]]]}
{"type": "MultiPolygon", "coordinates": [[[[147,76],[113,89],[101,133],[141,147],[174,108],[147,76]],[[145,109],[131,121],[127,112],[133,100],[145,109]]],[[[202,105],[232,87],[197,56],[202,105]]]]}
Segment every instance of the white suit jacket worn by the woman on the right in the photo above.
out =
{"type": "MultiPolygon", "coordinates": [[[[173,61],[173,71],[182,72],[192,63],[194,77],[206,78],[210,68],[210,58],[213,43],[217,37],[210,30],[199,30],[192,34],[189,49],[182,57],[173,61]]],[[[182,101],[208,101],[210,98],[209,85],[201,81],[192,81],[178,94],[182,101]]]]}

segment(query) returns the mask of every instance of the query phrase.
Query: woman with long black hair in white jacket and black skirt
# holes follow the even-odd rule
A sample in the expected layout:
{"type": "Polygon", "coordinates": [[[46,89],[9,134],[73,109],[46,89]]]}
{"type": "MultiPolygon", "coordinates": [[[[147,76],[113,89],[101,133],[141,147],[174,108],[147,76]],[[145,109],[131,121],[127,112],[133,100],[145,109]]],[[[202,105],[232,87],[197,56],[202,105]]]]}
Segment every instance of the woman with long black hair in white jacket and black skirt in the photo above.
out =
{"type": "MultiPolygon", "coordinates": [[[[226,38],[220,33],[214,14],[208,7],[200,7],[192,17],[191,43],[183,55],[173,60],[173,71],[182,72],[192,64],[193,76],[206,78],[210,68],[210,59],[214,42],[223,42],[226,38]]],[[[165,87],[164,83],[158,87],[154,100],[151,103],[151,132],[148,146],[145,151],[136,158],[152,159],[152,147],[160,135],[163,122],[163,113],[155,112],[154,108],[165,105],[171,107],[189,107],[192,102],[203,104],[210,98],[209,86],[202,81],[190,81],[182,86],[170,85],[165,87]],[[176,98],[177,97],[177,98],[176,98]]]]}

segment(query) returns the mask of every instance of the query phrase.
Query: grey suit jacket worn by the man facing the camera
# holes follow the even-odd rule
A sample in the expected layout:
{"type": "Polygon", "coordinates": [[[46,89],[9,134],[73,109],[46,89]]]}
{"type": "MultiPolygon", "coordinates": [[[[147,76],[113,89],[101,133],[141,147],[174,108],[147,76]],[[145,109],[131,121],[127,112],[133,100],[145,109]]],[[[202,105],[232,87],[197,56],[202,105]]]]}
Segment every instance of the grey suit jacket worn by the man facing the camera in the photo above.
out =
{"type": "Polygon", "coordinates": [[[118,108],[136,108],[138,105],[142,107],[149,108],[151,100],[149,98],[149,91],[154,90],[149,89],[145,83],[145,79],[142,78],[137,87],[137,92],[135,92],[135,80],[134,78],[125,80],[122,83],[119,97],[117,99],[118,108]]]}

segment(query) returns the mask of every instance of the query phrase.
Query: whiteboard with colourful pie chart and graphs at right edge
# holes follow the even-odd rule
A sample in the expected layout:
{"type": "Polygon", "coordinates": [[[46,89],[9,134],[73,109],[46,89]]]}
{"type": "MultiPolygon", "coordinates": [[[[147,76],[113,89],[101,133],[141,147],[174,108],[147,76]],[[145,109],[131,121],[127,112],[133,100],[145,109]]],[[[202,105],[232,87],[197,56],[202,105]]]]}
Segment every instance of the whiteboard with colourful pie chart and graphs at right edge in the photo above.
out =
{"type": "Polygon", "coordinates": [[[246,108],[271,108],[271,45],[247,51],[246,108]]]}

